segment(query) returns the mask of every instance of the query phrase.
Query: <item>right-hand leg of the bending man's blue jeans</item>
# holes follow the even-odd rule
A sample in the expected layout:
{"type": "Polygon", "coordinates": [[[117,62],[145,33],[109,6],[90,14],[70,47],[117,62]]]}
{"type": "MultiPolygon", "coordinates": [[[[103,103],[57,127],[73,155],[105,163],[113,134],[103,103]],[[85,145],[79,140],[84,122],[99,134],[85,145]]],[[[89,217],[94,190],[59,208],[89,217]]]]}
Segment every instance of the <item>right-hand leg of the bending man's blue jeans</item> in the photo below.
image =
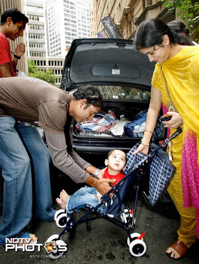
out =
{"type": "Polygon", "coordinates": [[[28,127],[17,123],[17,131],[31,155],[32,170],[35,178],[35,218],[43,221],[54,219],[55,211],[52,209],[52,194],[50,184],[50,153],[42,137],[35,127],[28,127]]]}

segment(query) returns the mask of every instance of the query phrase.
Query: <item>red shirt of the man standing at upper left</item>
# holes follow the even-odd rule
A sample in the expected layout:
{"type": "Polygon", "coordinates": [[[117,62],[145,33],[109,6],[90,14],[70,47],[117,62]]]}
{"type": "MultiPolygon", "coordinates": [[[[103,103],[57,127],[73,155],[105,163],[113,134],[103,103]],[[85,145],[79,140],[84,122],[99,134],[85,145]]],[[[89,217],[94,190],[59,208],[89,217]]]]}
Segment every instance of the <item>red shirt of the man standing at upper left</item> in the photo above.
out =
{"type": "MultiPolygon", "coordinates": [[[[10,64],[11,75],[15,77],[13,70],[13,62],[11,57],[10,43],[5,35],[0,32],[0,65],[4,63],[10,64]]],[[[1,78],[1,73],[0,73],[1,78]]]]}

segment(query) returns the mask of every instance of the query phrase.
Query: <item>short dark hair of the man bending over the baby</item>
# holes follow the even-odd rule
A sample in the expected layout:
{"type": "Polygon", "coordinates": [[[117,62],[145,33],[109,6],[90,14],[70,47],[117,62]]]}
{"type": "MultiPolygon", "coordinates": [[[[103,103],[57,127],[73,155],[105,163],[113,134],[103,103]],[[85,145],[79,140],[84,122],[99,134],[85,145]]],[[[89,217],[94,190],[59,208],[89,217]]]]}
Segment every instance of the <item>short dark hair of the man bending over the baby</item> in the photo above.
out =
{"type": "Polygon", "coordinates": [[[100,92],[97,87],[92,85],[84,85],[80,86],[73,94],[75,100],[82,100],[86,99],[86,106],[84,109],[88,108],[91,104],[95,107],[103,108],[103,102],[102,100],[98,99],[98,95],[100,95],[100,92]],[[90,96],[96,96],[96,98],[92,98],[90,96]]]}

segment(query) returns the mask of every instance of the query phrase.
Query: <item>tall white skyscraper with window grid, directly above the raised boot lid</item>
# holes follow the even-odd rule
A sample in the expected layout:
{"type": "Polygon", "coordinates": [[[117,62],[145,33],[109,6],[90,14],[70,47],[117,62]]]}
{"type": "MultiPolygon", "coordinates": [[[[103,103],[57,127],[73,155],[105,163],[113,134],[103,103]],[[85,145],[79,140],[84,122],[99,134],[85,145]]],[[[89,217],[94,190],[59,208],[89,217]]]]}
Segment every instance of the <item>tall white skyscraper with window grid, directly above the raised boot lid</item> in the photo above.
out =
{"type": "Polygon", "coordinates": [[[72,40],[90,37],[86,0],[55,0],[47,7],[49,55],[66,55],[72,40]]]}

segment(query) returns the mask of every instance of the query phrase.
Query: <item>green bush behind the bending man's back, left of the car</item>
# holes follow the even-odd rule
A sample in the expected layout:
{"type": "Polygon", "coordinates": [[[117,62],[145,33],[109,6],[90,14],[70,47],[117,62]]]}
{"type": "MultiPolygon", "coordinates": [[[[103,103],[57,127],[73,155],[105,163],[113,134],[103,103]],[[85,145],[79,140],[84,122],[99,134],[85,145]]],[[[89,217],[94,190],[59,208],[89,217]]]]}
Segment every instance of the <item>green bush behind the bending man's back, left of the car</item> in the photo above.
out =
{"type": "Polygon", "coordinates": [[[28,76],[41,79],[50,84],[55,84],[57,75],[54,75],[53,70],[40,71],[33,60],[28,59],[28,76]]]}

